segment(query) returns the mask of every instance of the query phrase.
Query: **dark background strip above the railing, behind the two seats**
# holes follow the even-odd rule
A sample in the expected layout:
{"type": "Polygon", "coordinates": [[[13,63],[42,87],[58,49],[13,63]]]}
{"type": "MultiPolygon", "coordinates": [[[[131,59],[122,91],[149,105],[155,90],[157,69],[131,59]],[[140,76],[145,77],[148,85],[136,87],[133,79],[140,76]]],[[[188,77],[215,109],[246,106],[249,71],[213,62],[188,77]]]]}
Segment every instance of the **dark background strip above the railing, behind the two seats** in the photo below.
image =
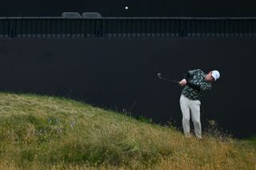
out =
{"type": "Polygon", "coordinates": [[[255,5],[255,0],[14,0],[1,2],[0,16],[56,17],[75,11],[104,17],[254,17],[255,5]]]}

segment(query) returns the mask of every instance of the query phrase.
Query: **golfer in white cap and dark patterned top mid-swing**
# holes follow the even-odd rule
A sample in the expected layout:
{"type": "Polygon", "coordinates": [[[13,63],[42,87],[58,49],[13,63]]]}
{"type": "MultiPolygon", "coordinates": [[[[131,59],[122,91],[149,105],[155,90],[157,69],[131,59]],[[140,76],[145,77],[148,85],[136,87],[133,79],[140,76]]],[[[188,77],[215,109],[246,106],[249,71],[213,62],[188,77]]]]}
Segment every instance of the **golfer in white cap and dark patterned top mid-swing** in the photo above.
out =
{"type": "Polygon", "coordinates": [[[211,89],[211,83],[217,81],[220,73],[217,70],[209,73],[202,72],[201,69],[189,70],[185,78],[179,81],[184,86],[180,97],[182,110],[182,127],[186,137],[190,137],[190,114],[194,123],[194,132],[198,140],[202,139],[202,127],[200,121],[200,105],[202,94],[211,89]]]}

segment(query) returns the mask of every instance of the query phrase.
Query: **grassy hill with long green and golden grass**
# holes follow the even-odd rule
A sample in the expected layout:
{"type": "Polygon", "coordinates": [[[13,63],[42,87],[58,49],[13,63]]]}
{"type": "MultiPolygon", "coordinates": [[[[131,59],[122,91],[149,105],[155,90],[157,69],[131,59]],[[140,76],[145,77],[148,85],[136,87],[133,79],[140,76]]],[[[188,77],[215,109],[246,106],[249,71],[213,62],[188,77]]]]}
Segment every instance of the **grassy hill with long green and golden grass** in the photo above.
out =
{"type": "Polygon", "coordinates": [[[58,97],[0,93],[0,169],[255,169],[252,141],[171,127],[58,97]]]}

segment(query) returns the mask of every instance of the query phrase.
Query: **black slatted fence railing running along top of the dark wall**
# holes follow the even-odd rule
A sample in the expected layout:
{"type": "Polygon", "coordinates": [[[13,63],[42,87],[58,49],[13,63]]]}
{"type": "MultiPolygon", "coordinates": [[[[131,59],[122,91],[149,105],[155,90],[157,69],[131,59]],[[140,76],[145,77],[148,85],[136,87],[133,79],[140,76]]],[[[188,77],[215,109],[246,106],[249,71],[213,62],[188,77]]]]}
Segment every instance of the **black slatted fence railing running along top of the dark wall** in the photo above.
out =
{"type": "Polygon", "coordinates": [[[0,18],[0,38],[255,38],[256,18],[0,18]]]}

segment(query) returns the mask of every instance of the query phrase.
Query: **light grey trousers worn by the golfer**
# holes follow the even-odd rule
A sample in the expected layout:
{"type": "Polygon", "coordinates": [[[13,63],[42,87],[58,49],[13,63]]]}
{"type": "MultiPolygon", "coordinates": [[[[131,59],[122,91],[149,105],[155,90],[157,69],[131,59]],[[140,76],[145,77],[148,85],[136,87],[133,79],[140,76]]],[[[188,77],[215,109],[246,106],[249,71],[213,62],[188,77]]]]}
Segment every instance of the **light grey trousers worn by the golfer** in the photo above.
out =
{"type": "Polygon", "coordinates": [[[198,139],[202,139],[202,127],[200,121],[200,105],[198,100],[190,100],[184,95],[180,98],[180,106],[182,110],[182,127],[185,136],[190,136],[190,114],[194,123],[195,136],[198,139]]]}

